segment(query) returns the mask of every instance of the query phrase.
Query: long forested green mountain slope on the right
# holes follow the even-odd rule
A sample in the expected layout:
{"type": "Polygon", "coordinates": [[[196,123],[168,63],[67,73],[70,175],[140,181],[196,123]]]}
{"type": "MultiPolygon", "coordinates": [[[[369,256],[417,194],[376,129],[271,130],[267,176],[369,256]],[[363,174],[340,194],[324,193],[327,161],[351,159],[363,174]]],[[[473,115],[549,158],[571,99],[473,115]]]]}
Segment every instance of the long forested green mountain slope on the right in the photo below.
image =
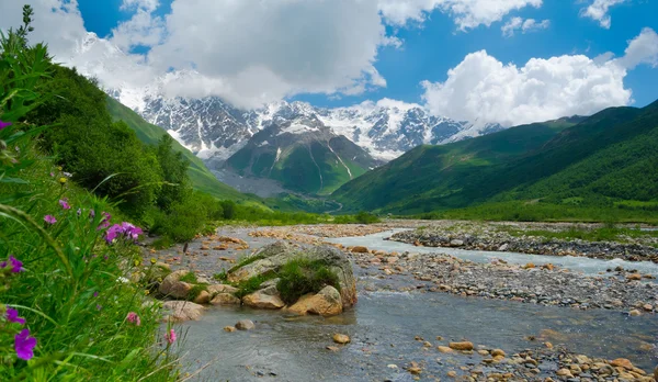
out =
{"type": "Polygon", "coordinates": [[[418,147],[333,196],[348,211],[396,213],[544,198],[648,200],[657,184],[656,109],[613,108],[578,124],[560,120],[418,147]]]}

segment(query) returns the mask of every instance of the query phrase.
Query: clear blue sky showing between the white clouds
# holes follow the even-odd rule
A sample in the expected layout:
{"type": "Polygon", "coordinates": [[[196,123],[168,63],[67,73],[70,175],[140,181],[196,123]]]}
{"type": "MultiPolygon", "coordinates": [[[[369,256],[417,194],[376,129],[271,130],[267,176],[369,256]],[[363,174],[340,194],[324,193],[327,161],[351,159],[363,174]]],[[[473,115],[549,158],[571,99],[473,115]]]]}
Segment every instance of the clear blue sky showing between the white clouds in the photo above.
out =
{"type": "MultiPolygon", "coordinates": [[[[110,36],[113,27],[133,15],[131,11],[120,10],[122,1],[79,0],[87,30],[100,36],[110,36]]],[[[171,12],[170,3],[171,1],[161,2],[155,14],[163,16],[171,12]]],[[[476,50],[486,49],[500,61],[517,66],[523,66],[533,57],[583,54],[593,58],[608,52],[623,56],[627,41],[635,37],[643,27],[658,30],[658,19],[655,16],[658,14],[658,1],[634,0],[611,7],[610,29],[601,27],[595,20],[581,16],[582,8],[581,1],[548,0],[541,8],[527,7],[514,11],[510,16],[549,20],[551,25],[529,33],[518,32],[513,36],[502,35],[504,20],[490,26],[480,25],[462,32],[450,14],[434,10],[428,14],[422,25],[387,26],[389,33],[395,30],[404,44],[400,48],[379,48],[374,66],[386,79],[385,88],[376,88],[359,96],[296,94],[291,99],[327,106],[343,106],[381,98],[421,103],[421,81],[444,81],[449,69],[476,50]]],[[[133,47],[133,52],[145,50],[140,46],[133,47]]],[[[624,85],[633,91],[634,105],[646,105],[658,98],[658,70],[647,65],[639,66],[629,70],[624,85]]]]}

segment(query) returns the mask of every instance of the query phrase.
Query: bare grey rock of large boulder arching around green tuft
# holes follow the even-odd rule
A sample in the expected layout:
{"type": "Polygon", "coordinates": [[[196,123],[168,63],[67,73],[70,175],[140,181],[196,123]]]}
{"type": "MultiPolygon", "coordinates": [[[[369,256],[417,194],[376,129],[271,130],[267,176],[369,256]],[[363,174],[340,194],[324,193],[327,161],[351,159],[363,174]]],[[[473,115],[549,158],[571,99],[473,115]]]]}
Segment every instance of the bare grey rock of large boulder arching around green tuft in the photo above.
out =
{"type": "Polygon", "coordinates": [[[252,256],[262,257],[262,259],[230,272],[229,281],[240,282],[254,276],[276,272],[293,259],[324,260],[328,268],[338,276],[343,310],[356,303],[356,281],[352,272],[352,263],[343,252],[334,247],[317,246],[300,251],[285,241],[277,241],[261,248],[252,256]]]}

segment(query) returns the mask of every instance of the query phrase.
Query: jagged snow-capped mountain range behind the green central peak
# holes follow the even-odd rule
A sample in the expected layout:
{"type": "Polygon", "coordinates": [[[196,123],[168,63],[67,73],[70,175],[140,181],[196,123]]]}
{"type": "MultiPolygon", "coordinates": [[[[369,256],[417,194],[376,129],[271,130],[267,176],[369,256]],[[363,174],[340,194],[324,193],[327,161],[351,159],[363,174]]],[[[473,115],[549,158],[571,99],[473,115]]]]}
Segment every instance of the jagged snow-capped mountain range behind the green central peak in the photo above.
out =
{"type": "Polygon", "coordinates": [[[257,110],[236,109],[216,97],[166,99],[110,92],[148,122],[167,130],[203,159],[224,160],[272,123],[299,116],[317,117],[337,135],[344,135],[373,157],[390,160],[422,144],[445,144],[494,133],[503,127],[453,121],[428,114],[420,105],[392,100],[349,108],[315,108],[304,102],[275,102],[257,110]]]}

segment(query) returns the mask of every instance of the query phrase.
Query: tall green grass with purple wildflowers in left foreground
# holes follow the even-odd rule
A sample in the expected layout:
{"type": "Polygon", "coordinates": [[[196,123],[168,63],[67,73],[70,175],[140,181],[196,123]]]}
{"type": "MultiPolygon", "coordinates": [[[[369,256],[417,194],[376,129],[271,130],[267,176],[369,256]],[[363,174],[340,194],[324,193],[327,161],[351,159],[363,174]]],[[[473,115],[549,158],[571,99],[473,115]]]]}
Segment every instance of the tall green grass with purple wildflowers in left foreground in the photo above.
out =
{"type": "Polygon", "coordinates": [[[114,207],[39,154],[45,127],[22,120],[48,97],[37,88],[48,76],[45,47],[13,31],[1,38],[0,379],[175,380],[159,307],[129,281],[141,268],[138,247],[106,243],[121,222],[114,207]]]}

